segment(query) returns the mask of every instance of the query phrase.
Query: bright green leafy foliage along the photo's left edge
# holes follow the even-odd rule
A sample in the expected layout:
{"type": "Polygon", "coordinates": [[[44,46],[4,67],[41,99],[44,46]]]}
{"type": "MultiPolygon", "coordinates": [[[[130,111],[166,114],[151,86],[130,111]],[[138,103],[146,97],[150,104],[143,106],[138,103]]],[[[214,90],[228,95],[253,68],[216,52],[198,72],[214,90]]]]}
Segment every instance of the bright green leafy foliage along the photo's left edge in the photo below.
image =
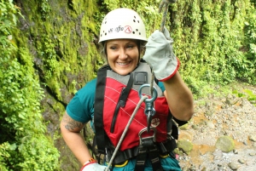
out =
{"type": "Polygon", "coordinates": [[[34,74],[32,57],[8,38],[19,8],[12,1],[1,1],[0,6],[1,23],[5,23],[0,28],[0,169],[56,170],[59,152],[45,134],[40,111],[44,92],[34,74]]]}

